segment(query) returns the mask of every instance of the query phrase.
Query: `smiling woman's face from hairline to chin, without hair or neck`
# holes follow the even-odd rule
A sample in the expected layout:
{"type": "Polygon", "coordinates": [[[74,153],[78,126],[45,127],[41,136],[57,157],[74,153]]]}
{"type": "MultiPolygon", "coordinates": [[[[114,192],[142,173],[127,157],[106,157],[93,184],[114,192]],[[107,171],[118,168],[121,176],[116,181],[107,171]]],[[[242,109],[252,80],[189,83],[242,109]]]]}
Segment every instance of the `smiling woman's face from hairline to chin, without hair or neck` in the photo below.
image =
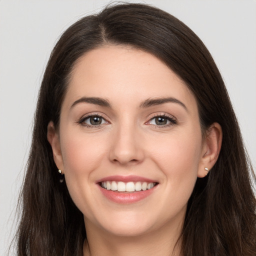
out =
{"type": "Polygon", "coordinates": [[[54,136],[56,165],[86,228],[181,227],[205,148],[195,97],[155,56],[128,46],[84,54],[54,136]]]}

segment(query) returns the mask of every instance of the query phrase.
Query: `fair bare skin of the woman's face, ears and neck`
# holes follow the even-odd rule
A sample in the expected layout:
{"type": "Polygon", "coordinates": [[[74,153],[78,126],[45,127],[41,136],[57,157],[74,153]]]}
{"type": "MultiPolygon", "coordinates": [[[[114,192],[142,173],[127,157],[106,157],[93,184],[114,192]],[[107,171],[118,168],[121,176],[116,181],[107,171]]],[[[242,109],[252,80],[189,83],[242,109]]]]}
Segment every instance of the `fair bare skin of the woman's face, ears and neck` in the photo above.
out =
{"type": "MultiPolygon", "coordinates": [[[[84,215],[83,254],[129,256],[171,255],[196,178],[214,165],[222,133],[213,123],[202,137],[195,97],[163,62],[128,46],[106,45],[74,65],[59,129],[50,122],[47,137],[84,215]],[[74,104],[81,97],[100,97],[111,107],[74,104]],[[166,97],[184,106],[141,107],[145,100],[166,97]],[[84,120],[95,114],[103,118],[100,125],[84,120]],[[157,125],[155,116],[169,119],[157,125]],[[139,175],[158,185],[146,198],[120,204],[106,199],[96,183],[109,175],[139,175]]],[[[179,245],[175,255],[181,255],[179,245]]]]}

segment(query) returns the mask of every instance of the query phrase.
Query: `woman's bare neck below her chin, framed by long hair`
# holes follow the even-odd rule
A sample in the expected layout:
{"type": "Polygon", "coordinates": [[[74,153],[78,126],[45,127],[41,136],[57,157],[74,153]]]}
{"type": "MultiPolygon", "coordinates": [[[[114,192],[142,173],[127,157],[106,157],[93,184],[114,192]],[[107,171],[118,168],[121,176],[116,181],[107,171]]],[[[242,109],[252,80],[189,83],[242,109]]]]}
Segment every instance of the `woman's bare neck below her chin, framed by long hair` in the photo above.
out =
{"type": "Polygon", "coordinates": [[[178,240],[182,223],[168,223],[157,231],[137,236],[118,236],[86,223],[87,240],[83,245],[83,256],[134,256],[161,255],[182,256],[181,239],[178,240]]]}

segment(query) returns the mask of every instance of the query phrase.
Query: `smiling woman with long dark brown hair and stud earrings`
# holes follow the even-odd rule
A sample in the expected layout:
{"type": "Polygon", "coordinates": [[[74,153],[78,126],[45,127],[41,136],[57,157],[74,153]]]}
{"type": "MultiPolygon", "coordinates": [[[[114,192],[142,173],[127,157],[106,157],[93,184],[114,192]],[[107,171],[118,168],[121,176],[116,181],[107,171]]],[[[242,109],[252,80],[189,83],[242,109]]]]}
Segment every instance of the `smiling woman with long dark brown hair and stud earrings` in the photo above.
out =
{"type": "Polygon", "coordinates": [[[48,61],[18,255],[255,255],[250,177],[200,39],[157,8],[106,7],[48,61]]]}

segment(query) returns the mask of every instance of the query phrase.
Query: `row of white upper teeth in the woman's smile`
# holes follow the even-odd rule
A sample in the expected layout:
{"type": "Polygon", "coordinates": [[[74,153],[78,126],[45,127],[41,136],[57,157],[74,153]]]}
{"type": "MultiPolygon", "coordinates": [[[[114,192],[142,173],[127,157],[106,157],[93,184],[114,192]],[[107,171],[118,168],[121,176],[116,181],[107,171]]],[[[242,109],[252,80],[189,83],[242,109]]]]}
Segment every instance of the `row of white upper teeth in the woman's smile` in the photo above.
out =
{"type": "Polygon", "coordinates": [[[101,187],[112,190],[112,191],[120,191],[120,192],[134,192],[141,191],[152,188],[156,183],[153,182],[122,182],[122,181],[103,181],[101,182],[101,187]]]}

